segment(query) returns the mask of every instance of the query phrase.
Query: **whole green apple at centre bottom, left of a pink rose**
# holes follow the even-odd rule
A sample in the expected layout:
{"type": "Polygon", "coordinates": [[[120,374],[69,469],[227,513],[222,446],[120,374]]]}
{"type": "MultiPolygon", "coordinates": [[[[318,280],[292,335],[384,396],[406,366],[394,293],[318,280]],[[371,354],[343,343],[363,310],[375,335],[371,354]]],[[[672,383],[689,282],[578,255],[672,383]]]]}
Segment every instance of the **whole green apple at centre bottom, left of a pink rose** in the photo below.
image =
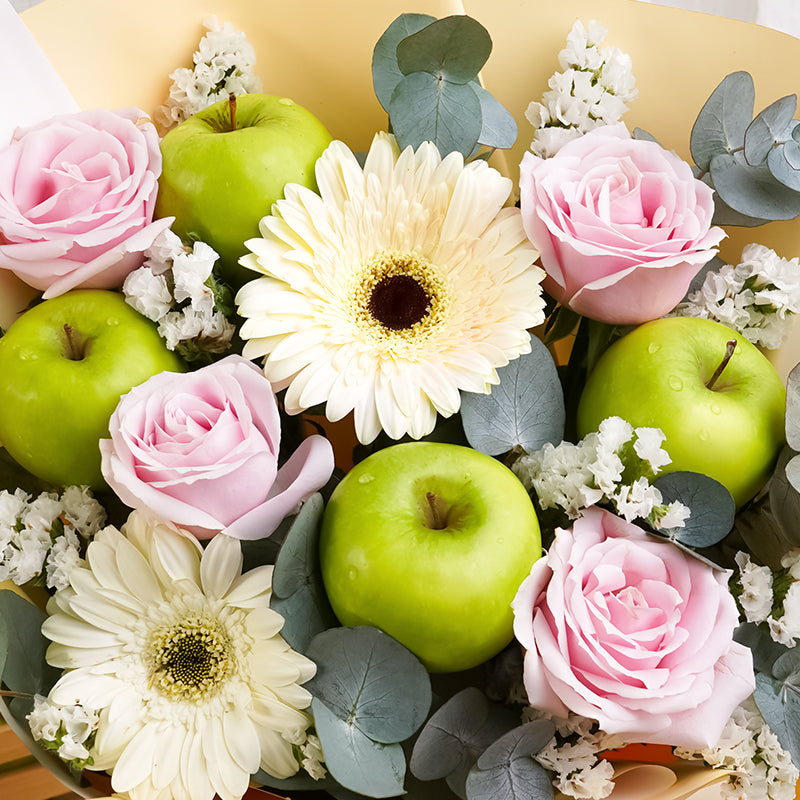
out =
{"type": "Polygon", "coordinates": [[[438,442],[392,445],[353,467],[320,531],[339,621],[382,629],[432,672],[476,666],[511,641],[511,601],[541,553],[516,475],[438,442]]]}

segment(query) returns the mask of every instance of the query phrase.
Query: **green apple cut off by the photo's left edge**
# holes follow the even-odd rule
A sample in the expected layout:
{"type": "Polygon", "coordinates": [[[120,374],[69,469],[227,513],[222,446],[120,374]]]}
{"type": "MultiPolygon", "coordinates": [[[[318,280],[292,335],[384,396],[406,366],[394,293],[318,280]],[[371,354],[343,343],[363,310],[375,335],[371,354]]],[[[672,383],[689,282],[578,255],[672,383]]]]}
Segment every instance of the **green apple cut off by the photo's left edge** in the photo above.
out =
{"type": "Polygon", "coordinates": [[[102,489],[98,442],[120,396],[164,370],[185,366],[121,294],[45,300],[0,339],[0,442],[48,483],[102,489]]]}

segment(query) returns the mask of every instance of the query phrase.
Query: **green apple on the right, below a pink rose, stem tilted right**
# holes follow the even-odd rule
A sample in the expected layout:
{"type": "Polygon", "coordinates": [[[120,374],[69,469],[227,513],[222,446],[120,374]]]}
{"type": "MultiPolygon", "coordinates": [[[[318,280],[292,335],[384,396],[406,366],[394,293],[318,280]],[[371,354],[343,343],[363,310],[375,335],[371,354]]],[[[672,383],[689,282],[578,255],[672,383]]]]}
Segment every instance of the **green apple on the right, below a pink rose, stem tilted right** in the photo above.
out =
{"type": "Polygon", "coordinates": [[[780,376],[747,339],[719,322],[666,317],[640,325],[603,353],[581,394],[577,427],[585,436],[619,416],[635,427],[660,428],[672,458],[664,472],[705,473],[741,506],[772,472],[785,410],[780,376]]]}

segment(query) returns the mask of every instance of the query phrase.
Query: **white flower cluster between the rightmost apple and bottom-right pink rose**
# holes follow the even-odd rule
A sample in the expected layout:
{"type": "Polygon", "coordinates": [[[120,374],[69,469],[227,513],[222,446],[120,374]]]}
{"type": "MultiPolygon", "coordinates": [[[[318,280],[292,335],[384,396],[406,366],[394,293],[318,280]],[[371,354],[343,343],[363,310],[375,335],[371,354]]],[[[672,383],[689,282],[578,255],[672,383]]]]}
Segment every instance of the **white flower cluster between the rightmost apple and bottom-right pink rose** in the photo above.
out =
{"type": "Polygon", "coordinates": [[[664,503],[650,478],[670,463],[657,428],[634,428],[609,417],[577,444],[547,443],[521,456],[514,472],[543,509],[560,508],[570,519],[582,509],[607,504],[628,522],[645,519],[656,529],[683,527],[689,509],[664,503]]]}

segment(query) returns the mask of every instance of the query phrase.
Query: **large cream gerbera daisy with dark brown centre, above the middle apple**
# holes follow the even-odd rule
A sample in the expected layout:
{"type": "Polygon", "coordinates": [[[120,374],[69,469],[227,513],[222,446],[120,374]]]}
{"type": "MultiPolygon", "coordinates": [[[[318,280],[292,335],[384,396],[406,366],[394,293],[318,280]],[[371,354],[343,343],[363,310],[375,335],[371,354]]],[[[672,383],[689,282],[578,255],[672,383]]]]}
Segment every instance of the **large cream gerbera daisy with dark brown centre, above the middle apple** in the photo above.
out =
{"type": "Polygon", "coordinates": [[[530,350],[544,319],[512,183],[431,143],[378,134],[362,169],[341,142],[316,167],[319,194],[291,184],[241,259],[263,273],[236,297],[244,355],[287,388],[286,409],[355,414],[358,438],[418,439],[459,390],[487,393],[530,350]]]}

